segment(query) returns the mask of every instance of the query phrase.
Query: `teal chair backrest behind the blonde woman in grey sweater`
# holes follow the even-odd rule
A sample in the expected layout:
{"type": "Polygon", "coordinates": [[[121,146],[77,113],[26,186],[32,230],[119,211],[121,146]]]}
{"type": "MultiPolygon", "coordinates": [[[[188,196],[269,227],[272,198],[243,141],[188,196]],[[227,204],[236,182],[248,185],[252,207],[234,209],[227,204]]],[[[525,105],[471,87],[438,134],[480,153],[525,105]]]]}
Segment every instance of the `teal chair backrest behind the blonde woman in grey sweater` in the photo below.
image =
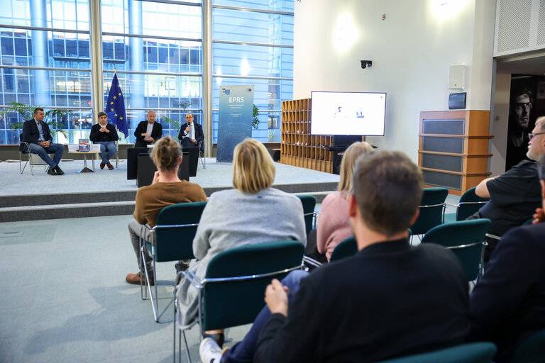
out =
{"type": "Polygon", "coordinates": [[[287,269],[299,269],[303,254],[304,245],[294,240],[245,245],[220,252],[209,262],[204,279],[202,329],[252,323],[265,304],[265,287],[272,279],[283,279],[287,269]],[[260,274],[267,276],[253,276],[260,274]]]}

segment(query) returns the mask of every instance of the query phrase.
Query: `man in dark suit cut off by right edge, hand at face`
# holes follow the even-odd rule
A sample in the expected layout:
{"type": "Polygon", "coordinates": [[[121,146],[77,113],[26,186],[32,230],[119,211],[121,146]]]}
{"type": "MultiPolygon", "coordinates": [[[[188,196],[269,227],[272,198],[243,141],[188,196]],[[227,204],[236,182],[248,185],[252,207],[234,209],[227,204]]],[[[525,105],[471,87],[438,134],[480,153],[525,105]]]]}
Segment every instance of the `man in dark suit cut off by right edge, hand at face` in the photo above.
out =
{"type": "MultiPolygon", "coordinates": [[[[545,133],[534,135],[532,146],[545,150],[545,133]]],[[[505,233],[470,296],[470,339],[494,342],[496,363],[511,362],[521,342],[545,329],[545,157],[538,167],[535,224],[505,233]]]]}

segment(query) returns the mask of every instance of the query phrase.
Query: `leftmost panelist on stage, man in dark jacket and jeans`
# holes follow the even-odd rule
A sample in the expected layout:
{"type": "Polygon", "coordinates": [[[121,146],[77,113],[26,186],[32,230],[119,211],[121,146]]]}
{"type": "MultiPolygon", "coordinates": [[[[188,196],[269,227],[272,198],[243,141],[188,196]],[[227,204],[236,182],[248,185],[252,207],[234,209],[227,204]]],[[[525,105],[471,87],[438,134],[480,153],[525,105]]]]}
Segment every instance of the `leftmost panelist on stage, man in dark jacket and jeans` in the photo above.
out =
{"type": "MultiPolygon", "coordinates": [[[[49,125],[43,122],[44,117],[43,108],[37,107],[34,109],[34,118],[23,123],[23,138],[21,141],[28,143],[28,147],[31,148],[30,152],[38,154],[43,161],[49,164],[48,174],[65,174],[59,167],[60,158],[62,157],[62,152],[65,150],[65,146],[52,143],[53,138],[49,131],[49,125]],[[54,154],[53,160],[51,160],[48,154],[54,154]]],[[[21,144],[20,150],[22,152],[28,151],[24,144],[21,144]]]]}

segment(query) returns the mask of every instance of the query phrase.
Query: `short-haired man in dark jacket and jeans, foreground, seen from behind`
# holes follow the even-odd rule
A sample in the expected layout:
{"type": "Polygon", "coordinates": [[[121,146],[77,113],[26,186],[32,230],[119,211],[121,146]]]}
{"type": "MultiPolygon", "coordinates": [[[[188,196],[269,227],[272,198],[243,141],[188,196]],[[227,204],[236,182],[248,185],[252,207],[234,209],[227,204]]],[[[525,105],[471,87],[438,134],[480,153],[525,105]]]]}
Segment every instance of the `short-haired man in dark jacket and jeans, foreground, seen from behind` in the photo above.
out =
{"type": "Polygon", "coordinates": [[[222,357],[205,338],[202,362],[377,362],[464,342],[468,284],[461,263],[439,245],[408,242],[422,172],[401,152],[368,154],[356,162],[352,185],[348,215],[359,252],[299,278],[289,306],[292,289],[272,280],[268,309],[244,340],[222,357]]]}

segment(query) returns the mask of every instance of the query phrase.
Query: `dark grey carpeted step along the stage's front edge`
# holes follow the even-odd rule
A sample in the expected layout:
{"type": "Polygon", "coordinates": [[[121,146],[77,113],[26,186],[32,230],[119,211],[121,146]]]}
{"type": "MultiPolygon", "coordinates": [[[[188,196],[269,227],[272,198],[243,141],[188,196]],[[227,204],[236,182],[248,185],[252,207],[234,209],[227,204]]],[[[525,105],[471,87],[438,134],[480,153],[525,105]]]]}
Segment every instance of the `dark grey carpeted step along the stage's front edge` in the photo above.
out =
{"type": "MultiPolygon", "coordinates": [[[[310,194],[321,203],[337,183],[283,184],[273,187],[292,194],[310,194]]],[[[229,187],[204,188],[207,196],[229,187]]],[[[0,197],[0,222],[131,215],[134,191],[38,194],[0,197]]]]}

